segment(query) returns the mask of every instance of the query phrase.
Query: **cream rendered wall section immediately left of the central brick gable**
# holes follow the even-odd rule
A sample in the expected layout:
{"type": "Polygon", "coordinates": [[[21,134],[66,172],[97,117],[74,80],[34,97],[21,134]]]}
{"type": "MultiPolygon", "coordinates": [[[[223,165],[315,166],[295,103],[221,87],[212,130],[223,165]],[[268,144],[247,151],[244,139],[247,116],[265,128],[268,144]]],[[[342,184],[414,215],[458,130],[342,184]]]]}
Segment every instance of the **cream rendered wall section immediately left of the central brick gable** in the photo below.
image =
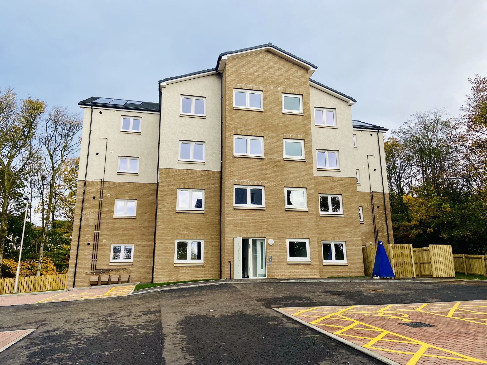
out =
{"type": "Polygon", "coordinates": [[[221,80],[214,74],[161,87],[160,168],[220,171],[221,80]],[[180,115],[181,95],[205,96],[206,118],[180,115]],[[178,162],[180,140],[205,142],[205,164],[178,162]]]}

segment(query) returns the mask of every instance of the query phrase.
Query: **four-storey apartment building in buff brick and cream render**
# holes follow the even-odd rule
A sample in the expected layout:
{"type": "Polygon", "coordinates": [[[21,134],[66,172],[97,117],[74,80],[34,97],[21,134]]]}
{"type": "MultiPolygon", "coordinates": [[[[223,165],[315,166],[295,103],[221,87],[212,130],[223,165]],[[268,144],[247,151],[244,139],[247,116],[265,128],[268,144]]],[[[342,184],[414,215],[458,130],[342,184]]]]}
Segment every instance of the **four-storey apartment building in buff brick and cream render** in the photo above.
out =
{"type": "Polygon", "coordinates": [[[393,242],[383,133],[271,43],[160,80],[159,103],[91,97],[68,287],[363,275],[393,242]]]}

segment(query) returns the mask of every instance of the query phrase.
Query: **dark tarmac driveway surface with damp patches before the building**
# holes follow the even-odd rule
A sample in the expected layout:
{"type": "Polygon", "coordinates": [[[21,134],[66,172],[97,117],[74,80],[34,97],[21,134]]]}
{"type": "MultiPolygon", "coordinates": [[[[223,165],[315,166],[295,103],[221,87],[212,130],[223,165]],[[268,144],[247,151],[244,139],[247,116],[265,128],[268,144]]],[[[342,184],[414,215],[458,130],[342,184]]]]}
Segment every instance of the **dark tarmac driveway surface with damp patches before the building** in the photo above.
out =
{"type": "Polygon", "coordinates": [[[224,283],[0,308],[0,364],[382,364],[272,308],[485,300],[487,283],[224,283]]]}

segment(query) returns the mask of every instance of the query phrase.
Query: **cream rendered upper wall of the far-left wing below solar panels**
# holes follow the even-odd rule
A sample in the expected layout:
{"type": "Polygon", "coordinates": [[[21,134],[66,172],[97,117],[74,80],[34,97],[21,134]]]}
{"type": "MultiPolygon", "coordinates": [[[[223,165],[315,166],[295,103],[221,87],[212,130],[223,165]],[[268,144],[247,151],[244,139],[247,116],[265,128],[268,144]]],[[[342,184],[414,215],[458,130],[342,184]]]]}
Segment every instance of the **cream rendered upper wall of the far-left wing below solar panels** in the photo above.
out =
{"type": "MultiPolygon", "coordinates": [[[[85,107],[78,180],[85,180],[86,154],[90,133],[90,114],[91,108],[85,107]]],[[[104,138],[107,138],[105,181],[156,183],[158,134],[159,113],[93,108],[87,180],[103,178],[105,145],[107,144],[107,140],[104,138]],[[120,132],[123,116],[140,118],[140,134],[120,132]],[[96,152],[98,152],[98,155],[96,155],[96,152]],[[138,175],[118,174],[118,156],[139,157],[138,175]]]]}

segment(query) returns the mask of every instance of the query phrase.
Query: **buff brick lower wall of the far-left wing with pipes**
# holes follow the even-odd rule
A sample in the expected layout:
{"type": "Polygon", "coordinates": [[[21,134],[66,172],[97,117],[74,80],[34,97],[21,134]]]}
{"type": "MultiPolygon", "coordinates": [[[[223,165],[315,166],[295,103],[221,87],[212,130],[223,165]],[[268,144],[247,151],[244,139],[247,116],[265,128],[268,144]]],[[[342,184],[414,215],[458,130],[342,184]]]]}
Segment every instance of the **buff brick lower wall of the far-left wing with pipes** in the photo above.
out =
{"type": "MultiPolygon", "coordinates": [[[[83,184],[84,181],[78,181],[79,194],[77,195],[75,206],[68,288],[73,287],[83,184]]],[[[150,282],[154,239],[155,189],[156,185],[151,183],[105,182],[96,262],[97,269],[110,269],[113,274],[117,274],[117,269],[123,269],[120,272],[129,274],[130,269],[130,282],[150,282]],[[136,218],[113,218],[115,199],[136,199],[136,218]],[[110,265],[111,245],[123,243],[134,245],[133,264],[110,265]]],[[[100,182],[87,181],[76,269],[76,287],[90,286],[90,270],[99,196],[100,182]],[[88,245],[88,242],[90,242],[90,245],[88,245]]]]}

